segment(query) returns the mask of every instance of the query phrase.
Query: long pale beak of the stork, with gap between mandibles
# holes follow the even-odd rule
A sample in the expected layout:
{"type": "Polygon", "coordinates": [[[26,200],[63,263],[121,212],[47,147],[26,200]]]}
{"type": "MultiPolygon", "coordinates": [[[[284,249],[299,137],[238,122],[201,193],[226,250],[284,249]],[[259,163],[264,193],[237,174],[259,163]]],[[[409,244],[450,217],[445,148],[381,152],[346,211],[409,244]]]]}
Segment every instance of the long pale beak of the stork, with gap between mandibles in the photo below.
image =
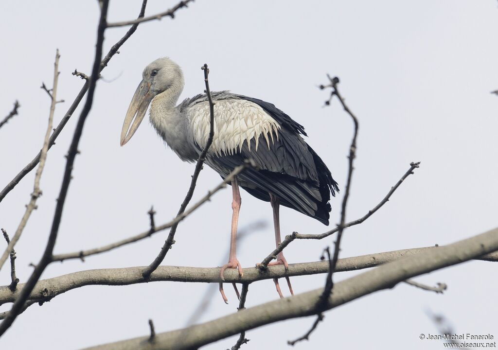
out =
{"type": "Polygon", "coordinates": [[[142,80],[138,88],[136,88],[135,95],[131,99],[128,112],[126,112],[126,117],[124,118],[123,129],[121,130],[122,146],[129,141],[136,129],[138,129],[138,125],[140,125],[143,117],[145,117],[147,107],[149,107],[150,101],[152,101],[154,96],[154,93],[150,91],[150,83],[142,80]]]}

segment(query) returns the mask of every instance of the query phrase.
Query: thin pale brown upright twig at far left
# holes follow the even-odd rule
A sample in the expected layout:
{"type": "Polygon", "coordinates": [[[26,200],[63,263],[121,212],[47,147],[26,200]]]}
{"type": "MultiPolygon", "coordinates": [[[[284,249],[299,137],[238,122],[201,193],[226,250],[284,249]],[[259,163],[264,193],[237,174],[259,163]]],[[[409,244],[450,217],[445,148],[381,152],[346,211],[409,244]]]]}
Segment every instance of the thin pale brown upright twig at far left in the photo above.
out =
{"type": "MultiPolygon", "coordinates": [[[[14,245],[19,240],[22,231],[24,230],[24,227],[26,226],[28,219],[31,216],[31,213],[33,212],[33,210],[37,208],[36,200],[42,194],[40,190],[40,178],[43,172],[43,168],[45,167],[45,160],[47,159],[47,152],[50,144],[49,143],[50,134],[52,132],[52,124],[54,120],[55,105],[57,104],[56,99],[57,99],[57,83],[59,81],[59,58],[60,58],[59,50],[57,49],[55,53],[55,62],[54,62],[53,88],[51,89],[52,92],[49,93],[51,103],[50,103],[50,113],[48,115],[48,125],[47,125],[47,130],[45,132],[45,137],[43,138],[43,146],[41,148],[41,154],[40,154],[40,165],[38,165],[38,169],[36,169],[36,175],[34,177],[33,192],[31,193],[31,199],[28,205],[26,206],[26,210],[24,211],[24,215],[22,216],[21,222],[19,223],[17,230],[15,231],[12,239],[7,245],[7,248],[0,257],[0,269],[2,268],[3,264],[5,263],[5,260],[7,259],[8,255],[14,248],[14,245]]],[[[45,84],[43,84],[43,86],[45,86],[45,84]]]]}

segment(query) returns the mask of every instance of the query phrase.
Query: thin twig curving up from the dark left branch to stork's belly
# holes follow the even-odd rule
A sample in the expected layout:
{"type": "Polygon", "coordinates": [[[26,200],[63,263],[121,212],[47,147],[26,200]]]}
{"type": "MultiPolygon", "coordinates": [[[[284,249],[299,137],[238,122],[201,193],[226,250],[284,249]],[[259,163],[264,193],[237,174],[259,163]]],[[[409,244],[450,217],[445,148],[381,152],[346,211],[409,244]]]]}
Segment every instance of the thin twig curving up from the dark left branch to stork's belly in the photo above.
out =
{"type": "Polygon", "coordinates": [[[64,260],[69,260],[69,259],[82,259],[83,257],[90,256],[90,255],[95,255],[95,254],[100,254],[109,250],[113,250],[116,248],[119,248],[123,245],[129,244],[136,242],[138,240],[150,237],[154,233],[158,233],[161,231],[164,231],[166,229],[169,229],[170,227],[173,227],[174,225],[177,225],[179,222],[184,220],[186,217],[188,217],[190,214],[192,214],[196,209],[198,209],[201,205],[204,203],[208,202],[211,197],[221,189],[227,187],[227,184],[230,183],[234,177],[239,175],[244,169],[246,169],[249,166],[253,166],[254,163],[251,162],[250,160],[247,160],[243,165],[239,165],[232,171],[218,186],[216,186],[214,189],[209,191],[204,197],[202,197],[197,203],[195,203],[192,207],[190,207],[188,210],[183,212],[182,214],[178,215],[176,218],[171,220],[170,222],[163,224],[161,226],[154,227],[154,230],[147,230],[142,233],[138,233],[134,236],[125,238],[123,240],[104,245],[102,247],[98,248],[92,248],[88,250],[80,250],[80,251],[75,251],[72,253],[65,253],[65,254],[57,254],[52,257],[52,261],[64,261],[64,260]]]}

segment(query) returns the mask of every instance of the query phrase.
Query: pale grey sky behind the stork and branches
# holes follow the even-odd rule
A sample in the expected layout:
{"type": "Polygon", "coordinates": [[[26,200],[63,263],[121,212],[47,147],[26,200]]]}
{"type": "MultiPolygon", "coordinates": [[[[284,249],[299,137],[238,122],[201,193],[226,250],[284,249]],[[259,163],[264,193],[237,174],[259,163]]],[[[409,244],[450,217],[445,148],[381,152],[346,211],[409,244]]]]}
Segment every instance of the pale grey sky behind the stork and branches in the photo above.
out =
{"type": "MultiPolygon", "coordinates": [[[[110,21],[134,18],[136,1],[112,1],[110,21]]],[[[150,0],[146,14],[176,1],[150,0]]],[[[82,86],[71,75],[89,73],[94,55],[96,1],[3,1],[0,22],[2,80],[0,117],[14,100],[19,116],[0,129],[3,186],[41,147],[55,49],[61,53],[58,122],[82,86]]],[[[182,98],[204,90],[200,67],[208,63],[212,90],[231,90],[274,103],[306,127],[308,143],[345,184],[352,122],[337,101],[323,108],[327,93],[317,89],[326,73],[341,78],[340,89],[360,120],[356,172],[348,219],[364,215],[408,169],[421,167],[389,203],[361,226],[348,229],[341,256],[454,242],[497,226],[498,8],[488,1],[208,1],[197,0],[176,18],[140,25],[104,71],[76,160],[56,253],[91,248],[148,228],[153,204],[156,223],[169,221],[188,188],[193,165],[182,163],[144,123],[120,147],[124,115],[141,71],[169,56],[185,74],[182,98]]],[[[126,28],[106,31],[105,51],[126,28]]],[[[79,110],[78,110],[79,112],[79,110]]],[[[41,180],[43,197],[16,246],[17,273],[25,281],[43,251],[52,221],[76,113],[49,154],[41,180]]],[[[0,227],[13,233],[29,200],[34,172],[0,204],[0,227]]],[[[202,172],[200,198],[219,182],[202,172]]],[[[341,197],[332,201],[331,223],[341,197]]],[[[223,191],[183,222],[168,265],[217,266],[230,234],[231,193],[223,191]]],[[[265,220],[267,228],[239,246],[243,266],[253,266],[273,248],[268,203],[242,193],[240,227],[265,220]]],[[[321,233],[325,226],[289,209],[281,211],[282,233],[321,233]]],[[[78,270],[148,264],[166,233],[85,263],[50,265],[43,278],[78,270]]],[[[318,260],[322,241],[297,241],[286,248],[289,263],[318,260]]],[[[2,246],[2,244],[0,244],[2,246]]],[[[340,280],[354,273],[338,273],[340,280]]],[[[296,349],[442,349],[420,341],[436,333],[425,311],[444,314],[458,333],[498,336],[496,266],[472,261],[417,278],[448,284],[444,295],[400,284],[328,312],[310,342],[296,349]]],[[[301,293],[323,285],[325,276],[293,278],[301,293]]],[[[9,283],[8,268],[0,273],[9,283]]],[[[236,311],[216,294],[202,321],[236,311]]],[[[2,349],[79,349],[183,327],[207,285],[150,283],[127,287],[84,287],[32,306],[0,339],[2,349]]],[[[284,294],[288,291],[284,287],[284,294]]],[[[247,306],[277,298],[273,283],[250,286],[247,306]]],[[[0,311],[8,309],[1,306],[0,311]]],[[[245,349],[288,349],[286,341],[305,332],[313,319],[292,320],[249,331],[245,349]]],[[[237,337],[203,349],[226,349],[237,337]]]]}

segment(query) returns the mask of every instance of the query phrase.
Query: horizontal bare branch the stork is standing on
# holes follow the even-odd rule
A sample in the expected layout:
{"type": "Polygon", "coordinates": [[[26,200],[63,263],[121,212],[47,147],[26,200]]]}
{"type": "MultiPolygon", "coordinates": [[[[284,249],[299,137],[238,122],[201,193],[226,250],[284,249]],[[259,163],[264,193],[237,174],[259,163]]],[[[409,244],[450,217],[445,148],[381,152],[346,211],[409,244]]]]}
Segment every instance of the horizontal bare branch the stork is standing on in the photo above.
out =
{"type": "MultiPolygon", "coordinates": [[[[335,272],[356,271],[372,268],[401,258],[424,254],[428,251],[438,250],[441,246],[431,246],[424,248],[412,248],[386,251],[361,256],[341,258],[337,260],[335,272]]],[[[498,262],[498,252],[481,255],[476,260],[498,262]]],[[[289,264],[288,271],[282,265],[268,266],[264,272],[256,267],[244,269],[244,276],[239,277],[237,271],[227,270],[225,282],[227,283],[252,283],[265,279],[283,278],[285,276],[305,276],[329,271],[329,261],[304,262],[289,264]]],[[[145,281],[141,275],[143,266],[96,269],[72,272],[66,275],[40,280],[29,295],[29,300],[46,301],[75,288],[89,285],[130,285],[146,282],[190,282],[190,283],[219,283],[220,267],[186,267],[186,266],[159,266],[145,281]]],[[[24,287],[23,283],[18,285],[15,292],[8,286],[0,287],[0,304],[11,303],[19,295],[19,291],[24,287]]]]}

